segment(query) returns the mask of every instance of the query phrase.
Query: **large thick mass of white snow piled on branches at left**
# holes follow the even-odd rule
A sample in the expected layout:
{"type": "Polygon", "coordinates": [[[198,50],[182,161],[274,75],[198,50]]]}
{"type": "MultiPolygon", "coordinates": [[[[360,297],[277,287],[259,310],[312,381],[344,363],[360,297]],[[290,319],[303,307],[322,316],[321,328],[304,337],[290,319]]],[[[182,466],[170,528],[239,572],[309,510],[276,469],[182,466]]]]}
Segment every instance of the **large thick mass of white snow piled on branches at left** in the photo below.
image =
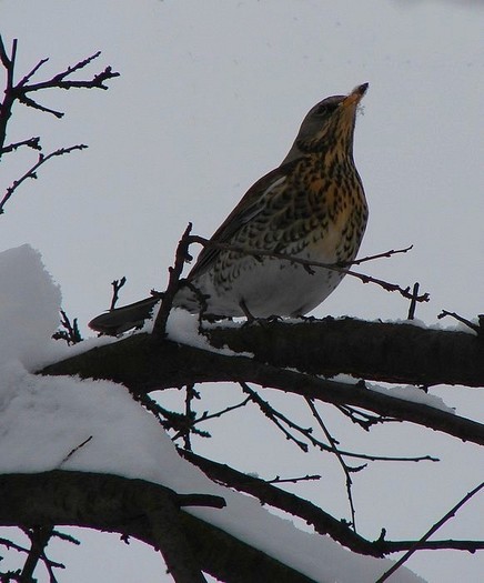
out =
{"type": "MultiPolygon", "coordinates": [[[[29,245],[1,253],[0,270],[2,473],[54,469],[113,473],[149,480],[179,493],[221,495],[225,509],[190,512],[315,581],[370,583],[392,564],[355,555],[326,536],[302,532],[289,520],[261,509],[256,500],[214,484],[178,455],[155,418],[123,386],[32,374],[39,362],[59,351],[51,334],[57,329],[60,291],[40,254],[29,245]]],[[[392,581],[423,580],[401,569],[392,581]]]]}

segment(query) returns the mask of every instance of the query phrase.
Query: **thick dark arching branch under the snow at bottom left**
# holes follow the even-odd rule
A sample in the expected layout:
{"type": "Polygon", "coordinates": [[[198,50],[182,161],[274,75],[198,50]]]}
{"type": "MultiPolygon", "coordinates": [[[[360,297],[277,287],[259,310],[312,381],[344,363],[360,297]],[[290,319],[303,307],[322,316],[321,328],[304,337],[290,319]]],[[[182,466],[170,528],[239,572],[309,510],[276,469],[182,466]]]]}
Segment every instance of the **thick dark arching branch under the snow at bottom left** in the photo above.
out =
{"type": "MultiPolygon", "coordinates": [[[[211,497],[216,500],[216,496],[211,497]]],[[[52,471],[1,475],[0,500],[0,524],[3,526],[52,523],[85,526],[133,536],[157,547],[161,541],[153,536],[150,510],[160,507],[163,501],[171,506],[174,501],[188,503],[190,496],[177,496],[168,489],[142,480],[52,471]]],[[[253,581],[254,573],[260,574],[260,581],[312,581],[186,512],[179,513],[179,524],[203,571],[222,581],[253,581]]]]}

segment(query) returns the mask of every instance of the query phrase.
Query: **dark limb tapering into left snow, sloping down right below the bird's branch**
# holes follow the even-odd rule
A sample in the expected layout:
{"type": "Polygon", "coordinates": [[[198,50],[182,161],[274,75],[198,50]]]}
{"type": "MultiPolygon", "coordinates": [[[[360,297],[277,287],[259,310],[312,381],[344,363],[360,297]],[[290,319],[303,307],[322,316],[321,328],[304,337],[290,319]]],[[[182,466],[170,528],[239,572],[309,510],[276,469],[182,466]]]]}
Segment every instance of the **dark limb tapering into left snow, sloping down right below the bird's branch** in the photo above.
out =
{"type": "Polygon", "coordinates": [[[90,350],[39,372],[108,379],[123,383],[134,394],[199,382],[254,382],[327,403],[360,406],[484,444],[484,425],[422,403],[370,391],[361,383],[327,381],[245,356],[226,356],[170,341],[157,341],[149,334],[137,334],[90,350]]]}

